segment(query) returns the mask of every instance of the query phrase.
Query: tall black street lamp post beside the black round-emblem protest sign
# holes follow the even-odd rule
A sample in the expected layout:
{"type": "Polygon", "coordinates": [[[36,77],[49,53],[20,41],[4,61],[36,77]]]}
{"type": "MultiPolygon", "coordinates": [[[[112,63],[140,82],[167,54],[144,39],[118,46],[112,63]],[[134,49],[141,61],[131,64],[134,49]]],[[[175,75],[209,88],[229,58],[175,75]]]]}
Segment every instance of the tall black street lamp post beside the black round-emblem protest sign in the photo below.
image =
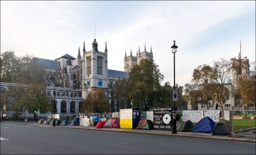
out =
{"type": "MultiPolygon", "coordinates": [[[[177,48],[178,46],[175,45],[175,40],[173,41],[173,46],[171,46],[171,48],[173,49],[173,68],[174,68],[174,86],[173,86],[173,90],[176,90],[175,88],[175,52],[177,52],[177,48]]],[[[177,130],[176,130],[176,112],[175,112],[175,103],[176,101],[173,101],[174,103],[174,114],[173,114],[173,125],[171,127],[171,133],[172,134],[176,134],[177,130]]]]}

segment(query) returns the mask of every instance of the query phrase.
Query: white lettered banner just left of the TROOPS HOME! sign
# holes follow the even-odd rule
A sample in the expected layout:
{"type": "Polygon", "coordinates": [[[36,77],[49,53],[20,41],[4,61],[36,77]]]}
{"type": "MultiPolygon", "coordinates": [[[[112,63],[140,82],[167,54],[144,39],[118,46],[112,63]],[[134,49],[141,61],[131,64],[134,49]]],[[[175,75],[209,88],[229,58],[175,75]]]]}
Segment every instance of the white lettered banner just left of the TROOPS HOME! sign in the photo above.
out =
{"type": "Polygon", "coordinates": [[[182,121],[199,122],[203,118],[203,110],[184,110],[182,111],[182,121]]]}

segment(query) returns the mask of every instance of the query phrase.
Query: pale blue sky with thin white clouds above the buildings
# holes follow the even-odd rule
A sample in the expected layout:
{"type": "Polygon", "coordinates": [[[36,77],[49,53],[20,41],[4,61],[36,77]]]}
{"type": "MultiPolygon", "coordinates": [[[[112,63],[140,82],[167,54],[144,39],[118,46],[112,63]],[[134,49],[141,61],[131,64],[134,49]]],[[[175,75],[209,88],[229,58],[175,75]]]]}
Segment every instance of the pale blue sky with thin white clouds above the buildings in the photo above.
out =
{"type": "Polygon", "coordinates": [[[255,62],[255,1],[1,1],[1,53],[55,60],[97,39],[108,68],[124,71],[124,55],[152,47],[153,59],[173,86],[191,83],[199,65],[238,53],[255,62]],[[241,43],[241,44],[240,44],[241,43]]]}

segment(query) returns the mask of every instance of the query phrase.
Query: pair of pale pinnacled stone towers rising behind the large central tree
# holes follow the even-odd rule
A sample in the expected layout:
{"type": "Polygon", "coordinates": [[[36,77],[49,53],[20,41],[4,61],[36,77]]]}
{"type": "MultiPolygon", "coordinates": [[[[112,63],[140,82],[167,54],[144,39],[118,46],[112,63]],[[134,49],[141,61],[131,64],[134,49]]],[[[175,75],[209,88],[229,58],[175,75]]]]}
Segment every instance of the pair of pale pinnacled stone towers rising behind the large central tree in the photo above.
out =
{"type": "Polygon", "coordinates": [[[124,72],[130,72],[130,69],[136,64],[139,64],[142,59],[153,59],[152,47],[150,48],[150,52],[147,52],[145,44],[144,51],[141,52],[139,49],[136,53],[136,57],[132,55],[132,49],[130,49],[130,55],[124,56],[124,72]]]}

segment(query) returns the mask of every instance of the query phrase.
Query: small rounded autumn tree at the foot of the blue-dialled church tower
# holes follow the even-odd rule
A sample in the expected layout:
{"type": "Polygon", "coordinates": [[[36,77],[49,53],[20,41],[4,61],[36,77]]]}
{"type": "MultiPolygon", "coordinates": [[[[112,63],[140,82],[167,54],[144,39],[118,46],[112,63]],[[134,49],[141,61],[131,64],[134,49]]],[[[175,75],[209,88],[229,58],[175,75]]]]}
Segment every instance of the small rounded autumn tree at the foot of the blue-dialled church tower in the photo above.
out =
{"type": "Polygon", "coordinates": [[[107,101],[106,93],[102,89],[96,88],[88,92],[87,98],[83,101],[81,112],[109,112],[110,105],[107,101]]]}

